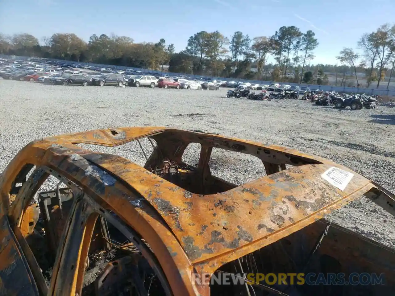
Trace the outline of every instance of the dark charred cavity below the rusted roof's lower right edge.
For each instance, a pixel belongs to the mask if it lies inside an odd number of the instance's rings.
[[[321,243],[319,243],[320,239],[322,239]],[[236,277],[236,274],[243,273],[265,275],[271,273],[278,279],[280,273],[305,275],[314,273],[315,275],[310,276],[309,279],[313,282],[318,281],[319,285],[299,285],[296,276],[293,285],[290,277],[286,278],[286,283],[282,282],[278,285],[278,280],[274,281],[271,275],[268,283],[262,280],[259,284],[253,285],[234,284],[232,280],[229,280],[229,285],[220,285],[218,281],[213,280],[210,290],[211,295],[215,296],[391,295],[395,290],[394,264],[393,250],[379,246],[376,242],[339,225],[329,225],[325,220],[318,220],[273,244],[221,266],[214,275],[233,274],[233,277]],[[376,283],[376,285],[366,284],[367,277],[363,277],[361,284],[358,285],[342,284],[340,276],[330,282],[333,275],[328,274],[339,275],[339,273],[344,273],[345,281],[348,281],[352,273],[376,273],[378,276],[384,273],[385,275],[382,284]],[[352,280],[357,281],[358,276],[352,277]]]

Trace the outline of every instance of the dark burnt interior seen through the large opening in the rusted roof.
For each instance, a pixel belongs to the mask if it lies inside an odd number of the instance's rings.
[[[262,148],[237,140],[213,135],[197,135],[167,131],[151,137],[156,141],[152,154],[144,168],[167,181],[196,194],[215,194],[228,191],[238,185],[213,176],[210,160],[213,148],[249,154],[261,160],[266,175],[286,170],[288,166],[320,163],[299,155],[286,154],[270,148]],[[198,164],[182,161],[182,155],[190,143],[201,145]],[[235,168],[237,169],[237,167]],[[240,184],[239,184],[240,185]]]

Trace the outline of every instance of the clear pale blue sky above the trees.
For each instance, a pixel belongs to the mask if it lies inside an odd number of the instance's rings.
[[[0,0],[0,32],[26,32],[39,39],[54,33],[129,36],[135,42],[174,43],[205,30],[230,37],[271,36],[280,26],[313,30],[320,45],[313,64],[335,64],[343,47],[354,47],[361,34],[393,22],[394,0]]]

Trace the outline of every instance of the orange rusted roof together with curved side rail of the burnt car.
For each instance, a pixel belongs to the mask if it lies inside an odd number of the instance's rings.
[[[295,167],[223,193],[201,195],[186,191],[128,159],[74,145],[117,146],[143,137],[155,139],[175,160],[181,158],[190,142],[198,142],[206,149],[238,151],[254,155],[264,163]],[[21,215],[15,209],[22,201],[15,200],[9,209],[9,191],[19,169],[27,163],[46,166],[64,175],[142,234],[158,257],[175,295],[199,292],[208,295],[207,289],[198,291],[201,288],[190,283],[192,270],[213,272],[313,223],[374,187],[367,178],[339,164],[279,146],[164,127],[93,130],[31,142],[11,161],[0,179],[0,217],[11,214],[12,227]],[[329,167],[354,174],[344,191],[321,178]],[[110,173],[114,182],[104,180],[98,173],[101,169],[107,172],[107,178]],[[146,203],[136,206],[137,199]]]

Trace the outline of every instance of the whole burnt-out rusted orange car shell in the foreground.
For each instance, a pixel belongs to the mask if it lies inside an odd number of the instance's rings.
[[[153,147],[144,167],[78,146],[143,138]],[[182,161],[190,143],[201,144],[196,166]],[[213,176],[214,148],[258,157],[266,176],[239,186]],[[49,176],[56,188],[34,200]],[[393,215],[394,195],[280,146],[165,127],[60,135],[26,145],[0,190],[0,295],[110,295],[125,285],[136,295],[378,295],[395,287],[393,250],[322,219],[361,195]],[[109,259],[100,269],[92,266],[98,257]],[[192,274],[307,271],[384,273],[386,284],[192,281]]]

